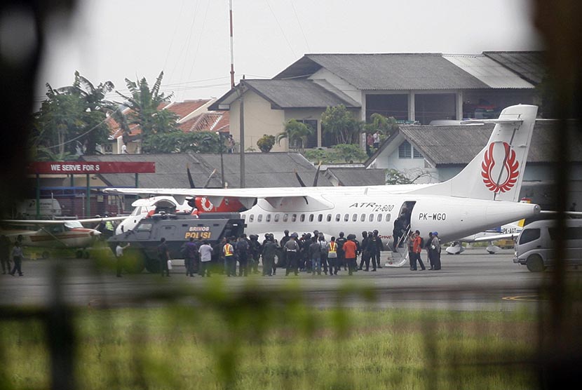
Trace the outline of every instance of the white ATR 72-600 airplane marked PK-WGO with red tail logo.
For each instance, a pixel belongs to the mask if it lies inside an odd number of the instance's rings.
[[[378,230],[393,247],[395,219],[405,211],[407,226],[428,236],[438,231],[442,241],[484,231],[492,226],[534,217],[538,205],[518,203],[537,107],[515,105],[499,119],[466,121],[495,123],[487,145],[461,172],[436,184],[360,187],[283,187],[245,189],[117,189],[110,194],[171,195],[178,203],[205,197],[210,205],[236,204],[245,211],[248,234],[284,230],[318,230],[326,238],[339,231],[359,236]],[[402,260],[400,264],[404,264]]]

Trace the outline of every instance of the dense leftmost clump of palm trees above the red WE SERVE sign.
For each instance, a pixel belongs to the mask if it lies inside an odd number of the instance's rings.
[[[75,72],[72,86],[53,89],[46,84],[46,100],[33,117],[30,152],[33,159],[70,159],[81,145],[83,154],[95,154],[95,145],[107,142],[106,113],[116,109],[105,100],[111,81],[93,86]]]

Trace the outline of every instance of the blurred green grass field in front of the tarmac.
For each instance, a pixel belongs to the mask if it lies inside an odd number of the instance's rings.
[[[292,290],[289,292],[294,293]],[[69,314],[78,389],[532,389],[529,313],[205,295]],[[2,321],[0,389],[50,388],[47,330]]]

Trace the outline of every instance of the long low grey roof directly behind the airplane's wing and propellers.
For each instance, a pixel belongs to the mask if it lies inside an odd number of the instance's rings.
[[[189,188],[186,167],[189,164],[194,184],[202,187],[212,170],[216,173],[210,179],[208,187],[220,187],[219,154],[108,154],[103,156],[86,156],[87,161],[153,161],[156,173],[140,173],[139,187],[142,188]],[[223,154],[224,180],[231,188],[239,187],[240,156]],[[305,183],[313,181],[316,167],[302,154],[292,152],[269,152],[245,154],[246,187],[299,187],[295,170]],[[102,180],[111,187],[135,187],[135,175],[105,174]],[[318,179],[319,186],[330,186],[323,175]]]

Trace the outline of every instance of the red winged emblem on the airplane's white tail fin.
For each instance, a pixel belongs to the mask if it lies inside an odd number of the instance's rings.
[[[481,163],[481,176],[483,177],[483,182],[489,191],[493,192],[506,192],[509,191],[515,183],[517,182],[517,177],[520,175],[520,163],[515,161],[515,151],[511,149],[507,142],[503,142],[503,148],[505,149],[505,158],[503,159],[503,168],[501,175],[494,179],[492,177],[492,170],[496,165],[496,161],[493,157],[493,149],[495,144],[489,144],[489,148],[485,151],[485,156],[483,162]],[[503,175],[504,173],[504,175]],[[496,182],[496,180],[503,180],[503,182]]]

